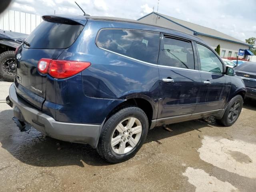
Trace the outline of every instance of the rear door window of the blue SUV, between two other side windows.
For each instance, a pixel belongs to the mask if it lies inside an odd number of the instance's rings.
[[[165,37],[158,64],[194,69],[192,44],[190,42]]]

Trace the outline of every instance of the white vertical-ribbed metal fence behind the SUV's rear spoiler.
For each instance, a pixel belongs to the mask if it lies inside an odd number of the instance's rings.
[[[30,34],[42,22],[40,15],[6,10],[0,14],[0,29]]]

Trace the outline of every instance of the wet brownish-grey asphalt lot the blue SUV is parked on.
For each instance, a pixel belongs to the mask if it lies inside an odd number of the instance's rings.
[[[0,101],[10,83],[0,82]],[[84,144],[20,132],[0,102],[0,191],[256,191],[256,102],[222,127],[193,120],[155,128],[138,154],[108,164]]]

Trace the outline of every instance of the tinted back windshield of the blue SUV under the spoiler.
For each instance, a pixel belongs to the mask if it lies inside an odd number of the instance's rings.
[[[28,36],[26,42],[30,47],[40,49],[63,49],[71,46],[84,26],[74,23],[62,23],[58,20],[44,20],[36,29]]]

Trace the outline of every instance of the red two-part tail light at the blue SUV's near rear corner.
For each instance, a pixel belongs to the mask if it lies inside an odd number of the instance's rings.
[[[49,74],[53,78],[64,79],[78,74],[91,65],[90,62],[52,60],[42,58],[38,62],[38,71],[42,74]]]

